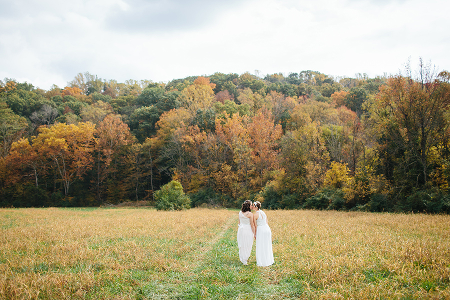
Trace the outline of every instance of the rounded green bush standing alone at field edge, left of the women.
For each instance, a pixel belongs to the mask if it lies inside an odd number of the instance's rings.
[[[182,210],[190,208],[190,198],[184,194],[183,186],[172,180],[154,192],[157,210]]]

